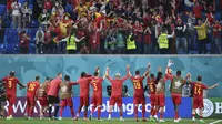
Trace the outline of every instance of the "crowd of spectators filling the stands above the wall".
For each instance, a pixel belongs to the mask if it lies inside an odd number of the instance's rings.
[[[33,9],[29,4],[7,0],[7,14],[1,16],[18,30],[20,53],[29,53],[33,41],[39,54],[222,53],[222,0],[34,0]],[[32,39],[27,29],[34,20],[39,27]],[[162,33],[171,35],[164,52],[159,46]],[[77,48],[68,52],[72,37]]]

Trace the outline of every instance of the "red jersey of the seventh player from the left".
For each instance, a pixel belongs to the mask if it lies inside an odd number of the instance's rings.
[[[93,95],[102,94],[102,78],[93,78],[91,81],[91,85],[93,87]]]

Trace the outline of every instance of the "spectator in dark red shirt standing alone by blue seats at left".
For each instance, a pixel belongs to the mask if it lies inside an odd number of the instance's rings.
[[[29,53],[29,41],[31,40],[27,32],[23,30],[19,32],[20,38],[20,53],[28,54]]]

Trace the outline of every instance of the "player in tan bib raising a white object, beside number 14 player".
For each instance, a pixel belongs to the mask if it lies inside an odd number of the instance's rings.
[[[165,75],[167,75],[167,79],[171,80],[170,92],[171,92],[172,102],[174,105],[174,122],[180,122],[181,117],[179,116],[179,106],[181,104],[182,90],[183,90],[183,85],[186,83],[186,80],[190,76],[190,74],[186,75],[185,80],[183,78],[181,78],[180,70],[176,71],[176,75],[172,75],[169,73],[169,69],[174,63],[171,60],[169,60],[168,63],[169,64],[167,66]]]

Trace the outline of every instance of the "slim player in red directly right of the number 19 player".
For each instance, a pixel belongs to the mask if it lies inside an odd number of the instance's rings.
[[[153,116],[157,116],[157,113],[154,111],[155,107],[155,78],[154,74],[150,74],[150,78],[147,79],[147,85],[150,90],[150,104],[151,104],[151,112],[150,112],[150,120],[153,118]]]

